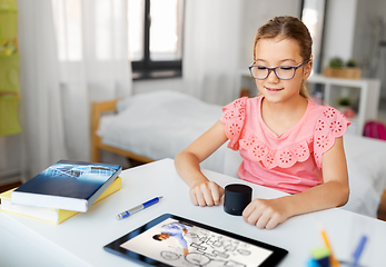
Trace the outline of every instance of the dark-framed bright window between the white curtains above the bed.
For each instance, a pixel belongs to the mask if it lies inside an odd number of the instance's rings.
[[[184,0],[129,0],[133,79],[181,76]]]

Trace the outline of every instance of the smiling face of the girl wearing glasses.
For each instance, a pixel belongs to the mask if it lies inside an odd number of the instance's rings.
[[[274,68],[277,66],[297,66],[304,61],[300,48],[293,39],[280,37],[260,39],[256,47],[254,65]],[[264,80],[256,80],[260,93],[269,102],[286,102],[299,98],[300,86],[310,75],[311,63],[305,63],[298,68],[290,80],[280,80],[274,71],[270,71]]]

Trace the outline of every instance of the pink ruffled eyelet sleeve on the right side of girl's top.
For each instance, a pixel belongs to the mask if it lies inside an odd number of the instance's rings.
[[[335,144],[335,138],[342,137],[350,122],[340,111],[329,106],[325,106],[324,112],[315,126],[314,135],[314,157],[316,165],[321,169],[321,156]]]

